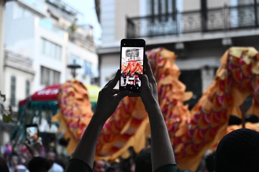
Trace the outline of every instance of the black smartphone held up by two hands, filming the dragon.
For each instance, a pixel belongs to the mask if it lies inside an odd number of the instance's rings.
[[[119,90],[140,91],[139,77],[144,74],[146,42],[143,39],[122,39],[120,43]]]

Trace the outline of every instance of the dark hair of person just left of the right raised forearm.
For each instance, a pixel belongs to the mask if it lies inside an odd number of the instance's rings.
[[[135,172],[152,172],[151,148],[140,151],[136,159]]]

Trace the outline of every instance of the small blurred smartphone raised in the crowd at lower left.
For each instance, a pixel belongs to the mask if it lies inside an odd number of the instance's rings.
[[[39,130],[37,124],[26,125],[25,127],[26,142],[28,144],[36,142],[39,138]]]

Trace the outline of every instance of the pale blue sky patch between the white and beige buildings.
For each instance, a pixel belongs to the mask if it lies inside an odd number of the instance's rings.
[[[63,0],[68,5],[81,12],[78,15],[78,24],[90,24],[94,27],[94,40],[97,45],[101,44],[102,29],[95,12],[94,0]]]

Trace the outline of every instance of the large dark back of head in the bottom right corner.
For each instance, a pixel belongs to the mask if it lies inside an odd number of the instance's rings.
[[[227,134],[215,153],[215,172],[259,171],[259,132],[239,129]]]

